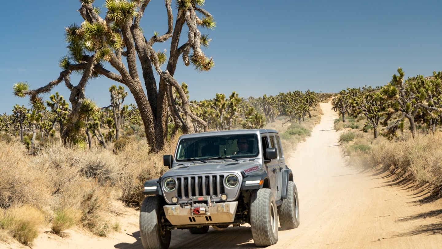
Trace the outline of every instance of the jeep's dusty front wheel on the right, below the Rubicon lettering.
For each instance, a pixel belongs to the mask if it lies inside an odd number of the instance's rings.
[[[278,241],[278,208],[270,189],[262,188],[252,192],[250,225],[255,245],[268,246]]]

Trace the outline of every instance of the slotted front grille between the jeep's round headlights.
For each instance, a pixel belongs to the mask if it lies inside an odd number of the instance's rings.
[[[176,195],[182,199],[192,196],[220,197],[224,193],[224,175],[195,175],[176,178]]]

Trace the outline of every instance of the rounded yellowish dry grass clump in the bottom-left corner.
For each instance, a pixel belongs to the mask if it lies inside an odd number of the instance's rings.
[[[43,214],[32,206],[0,209],[0,228],[20,241],[23,245],[31,245],[38,237],[38,231],[44,222]]]

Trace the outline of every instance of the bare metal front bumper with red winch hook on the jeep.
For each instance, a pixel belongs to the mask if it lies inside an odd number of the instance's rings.
[[[230,223],[235,219],[237,207],[238,202],[211,202],[205,207],[165,205],[164,213],[173,226]]]

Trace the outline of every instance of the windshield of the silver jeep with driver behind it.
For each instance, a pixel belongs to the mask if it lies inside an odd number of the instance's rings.
[[[199,136],[179,141],[176,160],[248,158],[258,156],[256,134]]]

